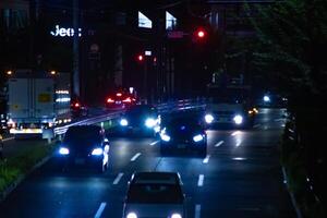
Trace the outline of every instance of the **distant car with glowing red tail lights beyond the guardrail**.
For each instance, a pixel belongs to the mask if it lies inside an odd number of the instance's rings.
[[[129,108],[136,104],[136,98],[126,92],[117,92],[111,94],[106,99],[107,109]]]

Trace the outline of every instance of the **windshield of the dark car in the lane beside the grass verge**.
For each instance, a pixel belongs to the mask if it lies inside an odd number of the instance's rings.
[[[86,145],[101,141],[100,129],[95,126],[72,128],[65,133],[63,143],[71,145]]]

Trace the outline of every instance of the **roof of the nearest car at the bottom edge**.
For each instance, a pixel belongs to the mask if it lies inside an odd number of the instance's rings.
[[[177,172],[136,172],[132,175],[132,184],[180,184]]]

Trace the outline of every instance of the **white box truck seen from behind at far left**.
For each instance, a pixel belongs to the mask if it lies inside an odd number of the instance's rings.
[[[64,110],[65,105],[69,111],[70,98],[58,100],[58,93],[69,90],[57,90],[57,80],[56,75],[48,72],[31,70],[15,71],[11,75],[8,81],[8,126],[15,138],[36,135],[46,137],[45,133],[49,133],[46,130],[58,123],[58,117],[71,121],[69,113],[58,113]]]

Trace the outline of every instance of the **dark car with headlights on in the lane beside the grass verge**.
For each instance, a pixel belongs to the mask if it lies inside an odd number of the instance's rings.
[[[70,126],[57,150],[62,169],[93,167],[100,172],[108,169],[109,141],[97,125]]]

